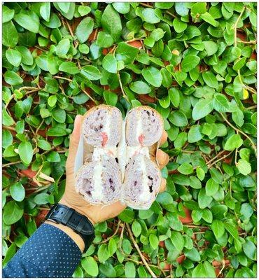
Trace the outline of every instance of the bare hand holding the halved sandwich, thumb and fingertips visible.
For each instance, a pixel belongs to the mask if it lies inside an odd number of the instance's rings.
[[[66,189],[59,203],[71,207],[78,211],[78,213],[87,216],[92,224],[94,224],[118,216],[126,206],[120,202],[105,207],[102,205],[91,205],[86,202],[81,195],[76,193],[73,169],[80,139],[80,127],[82,121],[83,116],[76,116],[73,132],[70,137],[69,156],[66,160]],[[161,144],[165,143],[165,141],[167,141],[167,132],[164,131],[161,138]],[[169,156],[161,150],[158,150],[157,158],[161,169],[169,162]],[[160,192],[165,190],[166,183],[166,180],[162,179]]]

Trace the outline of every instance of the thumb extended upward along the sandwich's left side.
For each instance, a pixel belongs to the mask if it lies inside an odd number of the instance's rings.
[[[74,160],[76,158],[76,151],[78,148],[78,143],[80,140],[81,123],[83,121],[83,116],[76,116],[73,125],[73,132],[70,135],[69,141],[69,156],[66,160],[67,166],[73,167]]]

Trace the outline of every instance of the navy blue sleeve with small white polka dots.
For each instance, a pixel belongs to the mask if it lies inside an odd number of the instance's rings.
[[[3,268],[3,278],[71,277],[81,252],[66,233],[41,225]]]

